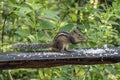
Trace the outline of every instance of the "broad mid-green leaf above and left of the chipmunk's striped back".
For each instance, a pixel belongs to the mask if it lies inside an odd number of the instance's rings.
[[[40,21],[37,26],[38,26],[38,29],[39,29],[39,30],[42,30],[42,29],[53,29],[53,28],[56,27],[56,26],[55,26],[52,22],[50,22],[50,21]]]

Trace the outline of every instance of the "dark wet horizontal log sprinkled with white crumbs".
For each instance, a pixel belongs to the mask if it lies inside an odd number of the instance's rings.
[[[120,47],[77,49],[72,52],[9,52],[0,54],[0,69],[46,68],[120,62]]]

